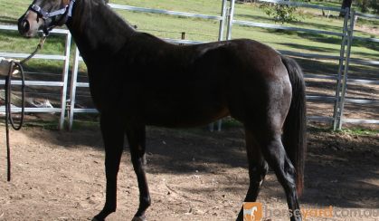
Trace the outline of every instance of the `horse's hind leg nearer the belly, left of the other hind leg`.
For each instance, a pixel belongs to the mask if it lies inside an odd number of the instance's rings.
[[[267,162],[261,154],[261,147],[254,139],[251,130],[245,130],[246,152],[249,162],[250,184],[244,202],[255,202],[260,192],[264,177],[269,171]],[[237,220],[243,219],[243,210],[240,211]]]

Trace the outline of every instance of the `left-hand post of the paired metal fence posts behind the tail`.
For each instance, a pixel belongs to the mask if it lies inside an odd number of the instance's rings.
[[[336,101],[333,112],[333,130],[336,130],[340,117],[340,92],[341,92],[341,80],[342,80],[342,72],[344,70],[344,62],[345,62],[345,48],[346,48],[346,33],[347,33],[347,21],[349,18],[350,9],[346,8],[346,14],[344,17],[344,26],[342,29],[342,43],[339,51],[339,63],[338,63],[338,72],[337,72],[337,80],[336,80]]]

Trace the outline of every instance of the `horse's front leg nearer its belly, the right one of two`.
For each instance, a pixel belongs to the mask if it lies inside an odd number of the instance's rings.
[[[133,221],[146,220],[145,211],[150,206],[150,194],[147,187],[147,178],[145,174],[145,147],[146,147],[146,131],[145,125],[133,126],[127,129],[130,156],[133,163],[134,171],[137,175],[139,188],[139,207]]]

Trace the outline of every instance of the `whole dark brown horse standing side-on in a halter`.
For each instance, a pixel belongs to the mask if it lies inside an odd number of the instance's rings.
[[[306,108],[304,80],[295,61],[247,39],[166,43],[137,32],[104,0],[34,0],[18,25],[21,34],[31,37],[63,24],[87,64],[91,96],[100,112],[107,197],[94,220],[116,210],[125,134],[140,192],[133,219],[145,220],[151,202],[144,171],[146,126],[193,127],[227,115],[245,128],[250,185],[244,201],[256,200],[270,166],[289,209],[299,209]],[[242,220],[242,211],[237,219]]]

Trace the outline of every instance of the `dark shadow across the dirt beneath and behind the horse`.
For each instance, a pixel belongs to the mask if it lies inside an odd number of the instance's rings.
[[[38,136],[38,133],[33,133],[33,136]],[[41,136],[44,136],[43,133]],[[49,139],[66,149],[80,145],[95,147],[102,151],[98,129],[71,133],[56,132],[52,133],[51,137],[44,136],[41,139]],[[223,129],[221,132],[209,132],[205,128],[192,130],[148,128],[147,172],[220,176],[230,169],[238,169],[244,178],[233,182],[230,181],[232,178],[226,178],[221,184],[223,188],[220,191],[233,190],[244,193],[248,187],[248,171],[243,147],[243,130],[238,126]],[[308,133],[306,190],[301,202],[325,207],[379,207],[377,147],[379,147],[378,134],[358,136],[311,130]],[[123,160],[129,164],[128,147],[125,154],[127,157]],[[283,191],[271,173],[263,185],[261,198],[272,197],[283,198]]]

